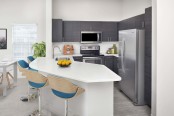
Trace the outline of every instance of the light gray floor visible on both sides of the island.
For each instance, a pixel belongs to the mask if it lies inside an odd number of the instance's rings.
[[[26,79],[19,79],[18,86],[9,89],[7,97],[2,97],[0,90],[0,116],[28,116],[37,108],[37,100],[21,102],[20,96],[27,93]],[[132,102],[116,87],[114,90],[114,116],[150,116],[147,106],[134,106]]]

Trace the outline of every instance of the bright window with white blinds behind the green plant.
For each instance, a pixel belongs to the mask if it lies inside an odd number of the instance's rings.
[[[33,55],[32,45],[37,41],[36,24],[15,24],[12,28],[13,56],[15,59],[26,59]]]

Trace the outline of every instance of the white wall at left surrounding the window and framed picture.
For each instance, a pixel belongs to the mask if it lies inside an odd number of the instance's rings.
[[[7,28],[8,49],[0,50],[0,59],[12,56],[13,24],[38,25],[38,39],[45,41],[45,0],[0,0],[0,28]]]

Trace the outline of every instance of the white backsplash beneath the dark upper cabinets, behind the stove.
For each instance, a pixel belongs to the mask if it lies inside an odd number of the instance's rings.
[[[61,52],[63,51],[63,46],[65,44],[70,44],[74,46],[74,54],[80,54],[80,46],[84,45],[81,44],[79,42],[53,42],[53,47],[58,46],[61,50]],[[119,47],[118,42],[102,42],[96,45],[100,45],[100,52],[101,53],[106,53],[106,51],[108,50],[108,48],[111,48],[113,46],[113,44],[116,44],[117,48]],[[60,53],[60,50],[58,48],[55,48],[54,50],[54,54],[57,55],[58,53]],[[118,50],[118,49],[117,49]]]

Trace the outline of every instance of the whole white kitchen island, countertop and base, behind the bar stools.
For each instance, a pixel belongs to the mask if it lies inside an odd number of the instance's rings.
[[[73,61],[62,68],[54,59],[37,58],[30,67],[46,76],[66,78],[85,89],[82,95],[69,100],[69,116],[114,115],[113,82],[121,78],[106,66]],[[64,100],[54,96],[49,86],[42,89],[42,107],[56,116],[64,114]]]

